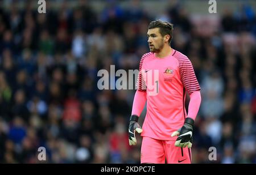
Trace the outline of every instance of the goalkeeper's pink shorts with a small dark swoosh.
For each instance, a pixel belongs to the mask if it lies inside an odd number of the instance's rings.
[[[143,136],[141,163],[191,164],[191,149],[174,145],[173,140],[158,140]]]

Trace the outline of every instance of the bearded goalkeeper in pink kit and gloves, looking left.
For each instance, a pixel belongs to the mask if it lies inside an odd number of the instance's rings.
[[[191,163],[193,125],[201,103],[200,86],[188,57],[172,49],[173,25],[156,20],[148,26],[150,52],[139,64],[137,91],[129,125],[129,144],[135,132],[143,136],[141,163]],[[185,92],[190,96],[188,114]],[[147,101],[143,127],[138,118]]]

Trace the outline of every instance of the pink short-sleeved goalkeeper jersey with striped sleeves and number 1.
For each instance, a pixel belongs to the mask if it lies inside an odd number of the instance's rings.
[[[190,95],[200,90],[188,57],[174,49],[164,58],[156,58],[151,52],[144,54],[139,65],[137,88],[147,94],[147,114],[141,135],[176,140],[170,135],[183,126],[187,117],[185,91]]]

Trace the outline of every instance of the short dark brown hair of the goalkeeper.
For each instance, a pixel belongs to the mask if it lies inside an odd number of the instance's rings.
[[[162,20],[154,20],[150,22],[150,24],[148,25],[148,29],[151,29],[151,28],[159,28],[159,32],[162,36],[170,35],[169,44],[171,45],[172,33],[174,31],[174,24],[169,22],[164,22]]]

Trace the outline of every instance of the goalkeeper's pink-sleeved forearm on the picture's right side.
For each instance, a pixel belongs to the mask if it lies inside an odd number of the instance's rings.
[[[195,91],[190,95],[190,101],[188,105],[188,117],[196,119],[197,113],[199,111],[201,104],[201,93],[200,91]]]

